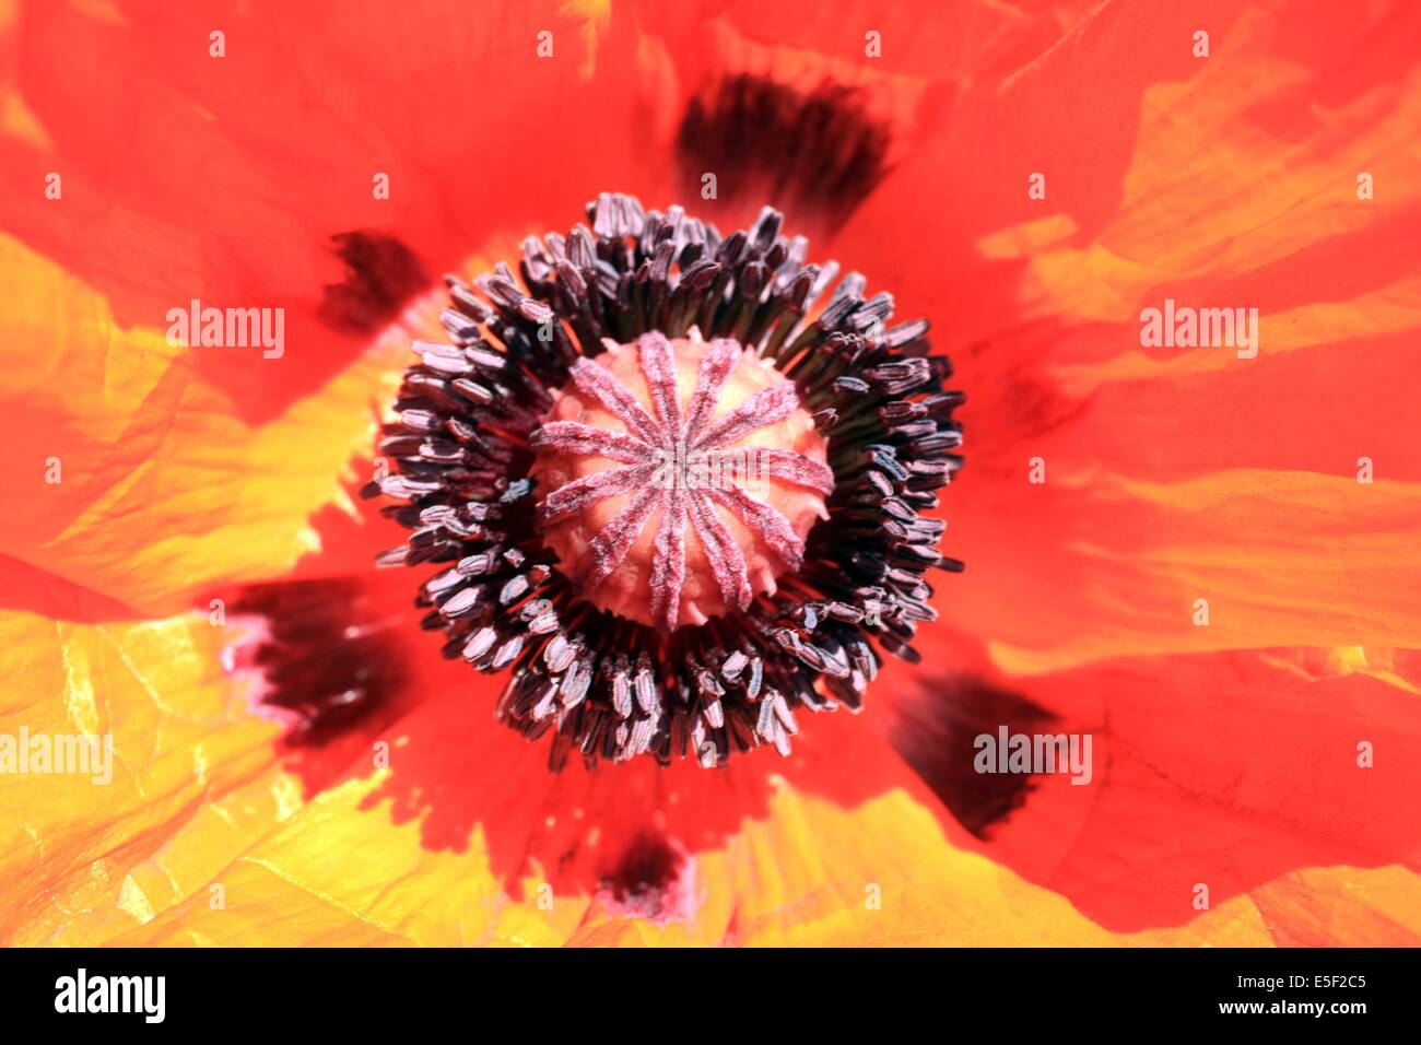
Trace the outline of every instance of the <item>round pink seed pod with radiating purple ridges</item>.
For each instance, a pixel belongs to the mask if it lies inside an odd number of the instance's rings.
[[[732,338],[608,343],[533,434],[543,537],[603,610],[674,630],[745,610],[828,518],[827,441],[794,382]]]

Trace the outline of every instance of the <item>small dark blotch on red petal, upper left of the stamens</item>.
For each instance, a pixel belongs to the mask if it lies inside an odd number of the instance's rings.
[[[382,232],[338,232],[331,236],[345,279],[325,286],[320,317],[344,334],[374,334],[429,286],[415,253]]]

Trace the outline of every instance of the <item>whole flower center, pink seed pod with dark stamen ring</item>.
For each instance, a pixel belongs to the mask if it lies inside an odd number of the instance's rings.
[[[800,711],[918,658],[926,573],[962,569],[928,515],[952,367],[773,208],[729,235],[618,193],[587,218],[446,277],[379,442],[398,472],[364,491],[411,530],[377,562],[441,564],[421,624],[507,672],[497,717],[554,769],[789,755]]]

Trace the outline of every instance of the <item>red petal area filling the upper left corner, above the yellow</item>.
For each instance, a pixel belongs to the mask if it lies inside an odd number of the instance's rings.
[[[0,71],[0,229],[95,287],[124,327],[192,299],[286,309],[281,365],[196,361],[249,422],[321,388],[377,333],[368,301],[342,313],[342,287],[375,279],[379,304],[389,276],[404,299],[414,274],[438,277],[506,225],[645,188],[624,74],[635,41],[608,36],[595,0],[476,18],[455,3],[30,4],[3,23],[0,47],[23,61]],[[357,230],[408,257],[347,270],[333,236]]]

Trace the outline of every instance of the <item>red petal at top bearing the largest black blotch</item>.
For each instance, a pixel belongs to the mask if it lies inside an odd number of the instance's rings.
[[[618,4],[641,28],[639,104],[665,145],[644,164],[720,227],[770,203],[823,252],[971,85],[999,82],[1080,17],[1052,7]]]

